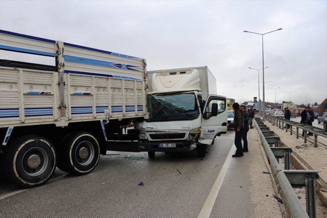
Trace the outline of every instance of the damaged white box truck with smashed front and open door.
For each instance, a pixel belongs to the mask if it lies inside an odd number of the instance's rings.
[[[227,132],[227,99],[217,94],[208,67],[147,72],[149,119],[141,123],[139,150],[181,152],[206,146]]]

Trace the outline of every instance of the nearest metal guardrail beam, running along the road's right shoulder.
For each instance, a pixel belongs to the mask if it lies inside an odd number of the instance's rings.
[[[256,120],[254,119],[256,123]],[[284,171],[281,169],[279,163],[277,162],[273,152],[271,151],[269,144],[267,143],[265,136],[261,132],[259,126],[257,125],[257,130],[261,139],[261,143],[264,147],[266,156],[269,160],[269,166],[273,175],[273,178],[276,182],[277,187],[279,188],[278,192],[283,199],[283,203],[286,208],[288,217],[293,218],[308,218],[306,211],[303,209],[299,199],[293,191],[292,186],[290,185]]]

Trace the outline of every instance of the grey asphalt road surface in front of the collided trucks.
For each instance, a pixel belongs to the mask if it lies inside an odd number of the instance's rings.
[[[33,189],[0,181],[0,217],[197,218],[229,152],[233,152],[233,142],[233,131],[217,137],[203,159],[196,151],[156,153],[154,159],[147,153],[107,152],[90,174],[72,176],[57,169],[52,181]],[[235,210],[233,205],[251,195],[251,190],[242,189],[251,183],[249,174],[242,173],[251,159],[242,161],[231,159],[227,165],[210,217],[252,217],[253,206],[241,205],[242,210]],[[261,165],[265,170],[265,164]],[[268,198],[266,193],[261,195]]]

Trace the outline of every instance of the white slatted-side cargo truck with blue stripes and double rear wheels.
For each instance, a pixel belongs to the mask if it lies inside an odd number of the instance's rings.
[[[0,49],[53,58],[53,66],[0,60],[0,176],[23,187],[58,166],[91,172],[107,136],[142,122],[144,59],[0,30]]]

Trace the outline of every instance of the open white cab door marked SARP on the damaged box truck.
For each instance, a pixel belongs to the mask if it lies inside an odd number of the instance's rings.
[[[209,95],[206,99],[199,142],[211,144],[213,139],[227,132],[227,99],[224,96]]]

